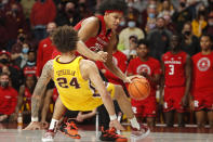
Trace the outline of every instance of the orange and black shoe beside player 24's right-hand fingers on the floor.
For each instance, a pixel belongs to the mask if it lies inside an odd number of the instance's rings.
[[[116,133],[115,128],[104,130],[104,127],[102,127],[102,134],[99,137],[99,140],[112,142],[128,142],[128,139],[125,137]]]

